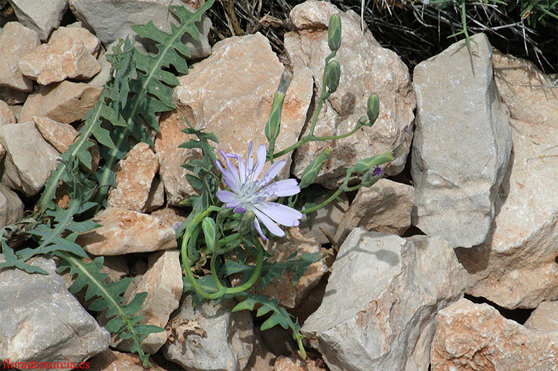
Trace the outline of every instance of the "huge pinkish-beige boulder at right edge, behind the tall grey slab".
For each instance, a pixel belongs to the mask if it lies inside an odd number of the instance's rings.
[[[558,97],[527,61],[495,54],[495,77],[511,114],[513,152],[485,244],[458,248],[467,292],[506,308],[558,299]]]

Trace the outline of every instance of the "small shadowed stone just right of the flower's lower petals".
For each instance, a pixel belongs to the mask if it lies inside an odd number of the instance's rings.
[[[330,191],[331,192],[331,191]],[[329,196],[319,196],[316,198],[316,204],[322,203]],[[309,214],[304,214],[299,226],[301,233],[308,238],[315,238],[320,244],[327,244],[329,239],[324,232],[329,234],[331,238],[335,237],[339,223],[343,214],[349,210],[349,200],[344,193],[340,194],[341,201],[333,200],[331,203]],[[324,232],[322,232],[322,230]]]

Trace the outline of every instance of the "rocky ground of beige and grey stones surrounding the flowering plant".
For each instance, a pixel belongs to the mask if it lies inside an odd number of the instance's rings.
[[[132,24],[168,27],[169,3],[181,1],[10,0],[15,14],[0,31],[1,226],[33,211],[103,90],[112,43]],[[309,0],[289,15],[294,77],[276,150],[308,131],[333,14],[342,19],[342,77],[316,134],[351,129],[370,93],[380,116],[347,139],[303,145],[286,158],[290,174],[300,177],[326,146],[333,155],[317,177],[324,188],[340,184],[356,159],[400,143],[405,155],[373,187],[267,246],[277,262],[326,253],[296,285],[285,272],[260,290],[303,322],[309,357],[299,358],[287,331],[259,331],[261,320],[232,313],[231,302],[193,306],[182,295],[173,226],[186,219],[179,202],[193,192],[180,167],[193,157],[178,147],[188,141],[183,117],[214,132],[226,152],[266,143],[284,69],[262,33],[210,46],[209,18],[197,24],[201,41],[189,44],[176,109],[160,116],[153,146],[137,143],[119,162],[107,208],[93,219],[102,227],[77,239],[91,258],[105,256],[110,279],[133,278],[126,298],[148,293],[144,323],[166,331],[149,335],[144,351],[164,370],[558,370],[556,77],[478,33],[472,54],[456,42],[418,63],[411,79],[395,52],[361,30],[359,15]],[[33,265],[48,275],[0,269],[1,360],[144,369],[130,344],[103,328],[102,312],[84,310],[91,298],[68,292],[72,278],[57,274],[52,258]]]

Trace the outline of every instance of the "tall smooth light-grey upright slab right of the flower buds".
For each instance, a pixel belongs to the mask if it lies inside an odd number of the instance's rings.
[[[492,73],[492,47],[481,33],[414,70],[412,223],[452,247],[488,239],[495,200],[511,152],[506,107]]]

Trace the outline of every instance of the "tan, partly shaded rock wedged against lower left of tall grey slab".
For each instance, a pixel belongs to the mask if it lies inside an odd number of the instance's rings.
[[[413,187],[387,179],[359,189],[339,223],[335,242],[341,244],[355,227],[402,235],[411,226],[413,201]]]

